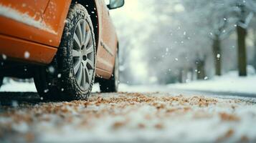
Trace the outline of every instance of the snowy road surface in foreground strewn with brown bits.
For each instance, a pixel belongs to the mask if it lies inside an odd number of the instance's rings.
[[[0,142],[256,142],[256,105],[158,92],[0,107]]]

